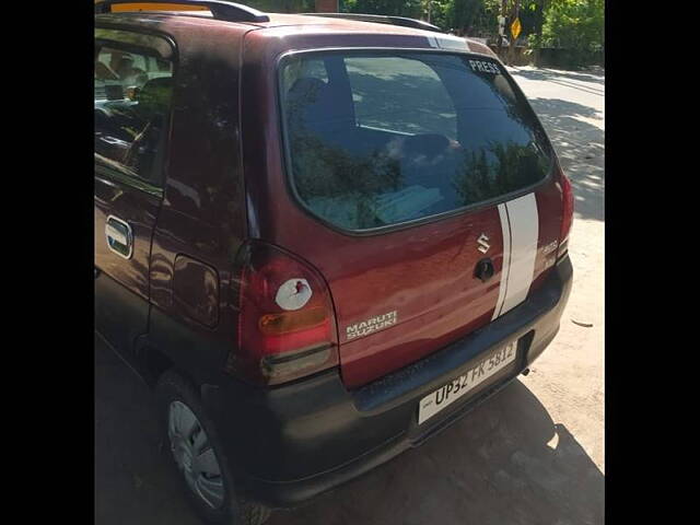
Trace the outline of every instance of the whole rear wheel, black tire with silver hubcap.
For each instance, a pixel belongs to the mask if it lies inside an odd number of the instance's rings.
[[[165,443],[164,453],[168,456],[168,463],[180,479],[199,516],[212,524],[262,525],[270,516],[270,511],[236,493],[225,452],[213,423],[202,408],[197,389],[176,372],[168,371],[159,378],[155,397]],[[180,435],[183,432],[177,432],[176,427],[180,421],[185,421],[183,425],[187,427],[192,421],[192,416],[194,435],[185,438]],[[197,448],[202,440],[205,445],[201,450]],[[218,470],[220,476],[209,477],[208,474],[211,472],[198,475],[198,460],[194,457],[203,457],[205,453],[210,459],[208,468],[212,471]],[[215,469],[211,467],[212,457],[215,458]],[[202,490],[202,483],[198,481],[206,481],[217,487],[217,490]],[[222,486],[221,489],[219,485]],[[212,497],[212,493],[215,493],[215,497]]]

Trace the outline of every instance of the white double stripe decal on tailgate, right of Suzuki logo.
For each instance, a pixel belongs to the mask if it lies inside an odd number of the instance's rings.
[[[525,301],[533,283],[539,236],[535,194],[500,205],[499,215],[503,231],[503,270],[492,319]]]

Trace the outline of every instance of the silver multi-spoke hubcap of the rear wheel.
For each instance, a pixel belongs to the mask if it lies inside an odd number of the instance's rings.
[[[182,401],[171,402],[167,435],[173,457],[187,486],[208,506],[221,506],[224,489],[219,460],[199,420]]]

